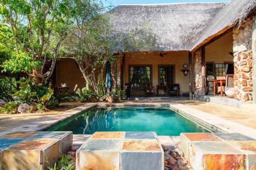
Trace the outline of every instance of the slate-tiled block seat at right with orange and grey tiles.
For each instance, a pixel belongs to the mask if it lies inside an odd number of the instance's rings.
[[[239,133],[181,133],[180,148],[193,169],[255,169],[256,140]]]

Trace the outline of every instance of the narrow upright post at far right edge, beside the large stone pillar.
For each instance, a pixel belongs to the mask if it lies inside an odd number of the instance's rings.
[[[256,105],[256,16],[252,18],[252,101]]]

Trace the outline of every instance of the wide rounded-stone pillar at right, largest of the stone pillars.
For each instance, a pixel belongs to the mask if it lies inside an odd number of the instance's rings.
[[[233,29],[234,99],[252,100],[252,19]]]

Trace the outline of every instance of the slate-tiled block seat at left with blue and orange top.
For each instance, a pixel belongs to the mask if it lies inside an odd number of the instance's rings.
[[[0,169],[48,169],[72,145],[72,132],[12,132],[0,136]]]

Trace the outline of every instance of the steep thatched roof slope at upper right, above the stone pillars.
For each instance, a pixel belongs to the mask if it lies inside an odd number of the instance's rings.
[[[255,7],[255,0],[232,0],[210,21],[209,26],[190,50],[195,50],[211,38],[239,25]]]

